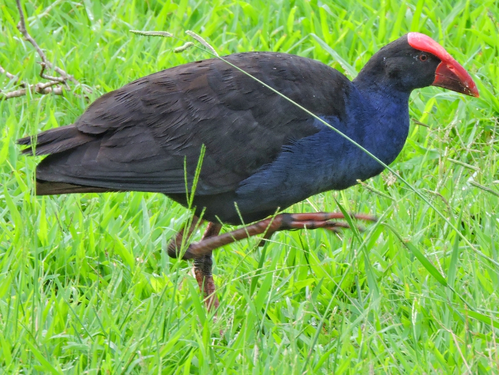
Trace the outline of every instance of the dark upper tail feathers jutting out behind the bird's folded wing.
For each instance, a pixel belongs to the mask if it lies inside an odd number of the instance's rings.
[[[93,136],[80,132],[75,125],[61,126],[60,128],[46,130],[37,136],[24,137],[17,140],[20,145],[32,146],[35,142],[35,155],[48,155],[69,150],[90,142]],[[33,155],[33,148],[22,150],[23,154]]]

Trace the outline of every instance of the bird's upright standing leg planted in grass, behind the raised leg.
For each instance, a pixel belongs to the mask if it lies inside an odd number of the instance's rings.
[[[210,237],[218,236],[221,229],[221,224],[209,222],[201,241],[204,241]],[[208,310],[211,310],[212,308],[218,309],[219,307],[219,300],[215,294],[215,282],[213,281],[212,266],[213,259],[211,251],[200,258],[194,259],[194,275],[196,276],[199,290],[205,298],[208,298],[206,300]]]

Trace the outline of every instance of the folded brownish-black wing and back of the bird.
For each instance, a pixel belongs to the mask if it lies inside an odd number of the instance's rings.
[[[351,82],[321,62],[272,52],[226,59],[317,115],[345,116]],[[209,59],[140,78],[98,98],[73,125],[38,134],[35,152],[49,156],[38,165],[36,178],[185,193],[184,159],[190,184],[204,144],[196,194],[218,194],[235,190],[282,146],[318,131],[311,117],[287,100]],[[30,138],[19,143],[28,145]]]

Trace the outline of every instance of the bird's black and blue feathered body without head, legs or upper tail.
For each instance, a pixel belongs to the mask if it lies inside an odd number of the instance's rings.
[[[226,58],[385,163],[402,149],[408,93],[357,87],[321,62],[290,54]],[[248,223],[383,170],[348,140],[219,59],[129,83],[97,99],[73,125],[41,133],[37,142],[38,154],[51,154],[37,167],[38,194],[152,191],[183,204],[184,157],[191,185],[204,144],[194,206],[198,213],[206,208],[207,220],[231,224],[241,223],[235,202]]]

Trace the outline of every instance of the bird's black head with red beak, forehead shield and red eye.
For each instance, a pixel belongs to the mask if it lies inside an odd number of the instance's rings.
[[[401,91],[439,86],[479,96],[465,68],[439,43],[419,32],[409,32],[376,52],[358,78],[365,81],[369,76]]]

